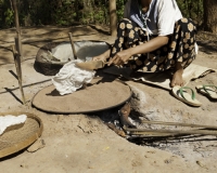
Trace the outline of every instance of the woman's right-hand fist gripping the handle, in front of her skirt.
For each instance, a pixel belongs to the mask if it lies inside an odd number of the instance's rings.
[[[127,63],[130,57],[131,57],[130,51],[124,50],[116,53],[116,55],[112,59],[110,59],[107,65],[110,66],[111,64],[114,64],[114,65],[120,66]]]

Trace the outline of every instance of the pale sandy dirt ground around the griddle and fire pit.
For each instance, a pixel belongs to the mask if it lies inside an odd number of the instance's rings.
[[[104,123],[114,121],[117,109],[91,115],[54,115],[31,107],[34,95],[51,84],[51,77],[36,72],[34,62],[40,46],[51,41],[101,40],[112,43],[106,27],[34,27],[22,28],[24,61],[23,86],[26,105],[16,79],[11,44],[15,29],[0,30],[0,111],[27,111],[41,118],[44,129],[41,138],[46,146],[36,152],[26,149],[0,159],[4,173],[213,173],[216,172],[216,136],[186,136],[179,138],[126,139]],[[217,36],[201,32],[200,52],[195,64],[217,69]],[[176,99],[167,90],[135,81],[126,81],[133,95],[130,101],[138,117],[148,120],[217,125],[217,102],[196,94],[203,104],[195,108]],[[216,72],[191,81],[188,85],[217,85]],[[138,116],[139,115],[139,116]],[[138,124],[142,127],[143,124]]]

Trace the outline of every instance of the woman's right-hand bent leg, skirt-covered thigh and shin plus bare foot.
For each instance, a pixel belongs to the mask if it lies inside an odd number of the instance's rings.
[[[175,69],[170,85],[183,85],[183,69],[195,58],[195,26],[191,19],[178,21],[167,45],[150,52],[149,56],[143,54],[138,56],[131,66],[136,70],[150,72]]]

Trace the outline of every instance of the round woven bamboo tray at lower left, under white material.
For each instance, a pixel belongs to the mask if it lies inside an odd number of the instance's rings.
[[[16,130],[4,132],[0,135],[0,158],[10,156],[31,145],[42,133],[43,124],[40,118],[29,112],[0,112],[0,116],[26,115],[24,125]]]

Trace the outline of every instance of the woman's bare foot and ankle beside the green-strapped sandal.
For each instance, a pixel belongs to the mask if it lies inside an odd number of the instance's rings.
[[[176,64],[175,74],[173,76],[170,86],[174,88],[175,85],[183,85],[183,79],[182,79],[183,68],[181,66],[181,63]]]

